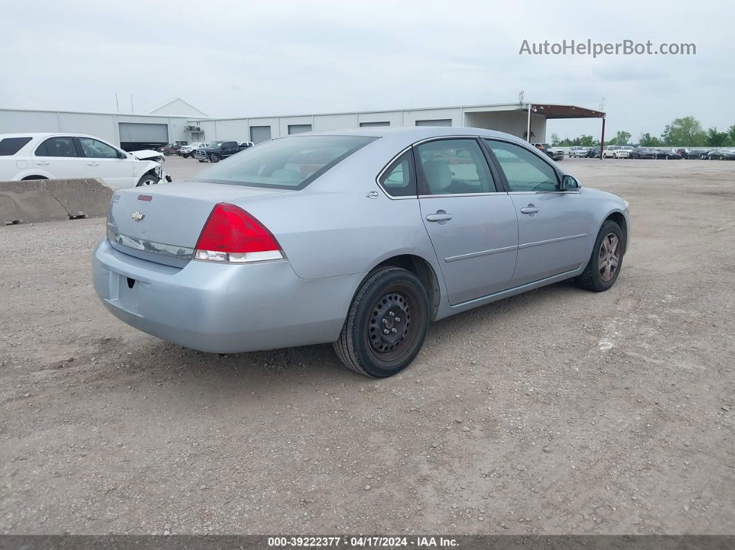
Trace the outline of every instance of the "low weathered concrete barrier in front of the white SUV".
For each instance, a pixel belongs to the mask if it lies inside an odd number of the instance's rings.
[[[111,198],[96,178],[0,181],[0,223],[107,216]]]

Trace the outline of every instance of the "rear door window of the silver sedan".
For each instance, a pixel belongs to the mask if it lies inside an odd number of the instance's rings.
[[[437,140],[416,146],[419,195],[495,192],[485,156],[476,140]]]

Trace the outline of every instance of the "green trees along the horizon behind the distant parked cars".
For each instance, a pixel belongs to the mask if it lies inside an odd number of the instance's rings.
[[[630,132],[618,131],[605,145],[628,145],[631,139]],[[735,146],[735,124],[727,131],[718,131],[712,126],[706,130],[695,117],[675,118],[666,125],[661,137],[652,136],[649,132],[640,134],[638,143],[641,147],[728,147]],[[588,134],[582,134],[570,140],[568,137],[559,140],[557,134],[551,134],[551,145],[555,147],[592,147],[600,145],[600,140]]]

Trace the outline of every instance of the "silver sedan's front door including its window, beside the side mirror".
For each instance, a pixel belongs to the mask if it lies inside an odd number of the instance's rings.
[[[559,173],[530,148],[485,140],[501,169],[518,218],[513,286],[577,269],[587,262],[592,214],[578,189],[559,190]]]

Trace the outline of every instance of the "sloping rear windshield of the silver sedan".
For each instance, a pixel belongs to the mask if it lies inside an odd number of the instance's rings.
[[[189,181],[304,189],[375,137],[301,136],[272,140],[214,164]]]

